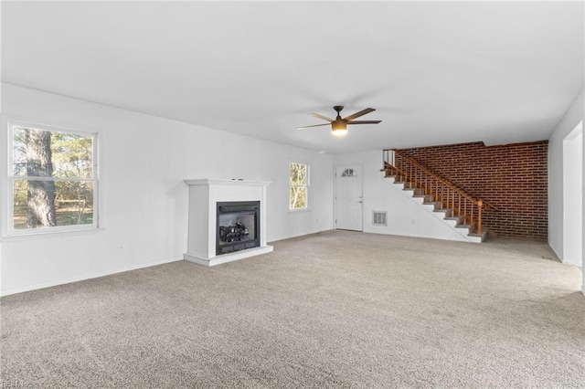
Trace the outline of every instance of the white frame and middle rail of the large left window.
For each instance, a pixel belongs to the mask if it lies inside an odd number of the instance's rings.
[[[70,233],[80,231],[92,231],[100,228],[100,139],[101,131],[95,128],[89,128],[84,126],[66,126],[57,124],[48,124],[46,122],[30,121],[25,119],[14,119],[5,118],[3,120],[3,127],[6,131],[5,145],[2,147],[6,151],[4,177],[5,185],[2,187],[5,200],[3,201],[3,208],[6,216],[5,226],[2,226],[2,237],[26,237],[26,236],[38,236],[45,234],[58,234],[58,233]],[[16,127],[20,128],[35,128],[41,131],[51,132],[65,132],[71,134],[79,134],[83,136],[91,137],[92,147],[92,170],[93,174],[91,178],[63,178],[63,177],[42,177],[40,181],[53,181],[53,182],[89,182],[93,184],[93,220],[91,224],[82,225],[70,225],[70,226],[49,226],[42,228],[15,228],[14,224],[14,191],[16,181],[30,181],[37,179],[35,177],[29,177],[27,175],[15,175],[14,173],[14,161],[15,161],[15,131]]]

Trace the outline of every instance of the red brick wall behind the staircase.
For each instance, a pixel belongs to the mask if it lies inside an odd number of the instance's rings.
[[[431,171],[497,210],[483,223],[499,237],[548,238],[548,141],[483,142],[403,149]]]

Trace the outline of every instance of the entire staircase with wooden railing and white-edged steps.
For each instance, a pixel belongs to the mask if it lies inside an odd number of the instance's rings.
[[[400,150],[384,150],[381,170],[392,184],[399,185],[398,189],[409,192],[414,201],[439,216],[466,240],[484,241],[487,228],[482,226],[482,213],[495,209],[493,205],[473,198]]]

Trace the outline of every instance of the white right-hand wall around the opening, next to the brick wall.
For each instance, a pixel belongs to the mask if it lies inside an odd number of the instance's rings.
[[[548,140],[548,245],[558,258],[565,258],[563,248],[563,141],[583,120],[584,92],[573,101]]]

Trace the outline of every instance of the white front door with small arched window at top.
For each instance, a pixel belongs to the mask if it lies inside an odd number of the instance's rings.
[[[363,229],[361,165],[335,168],[335,228]]]

